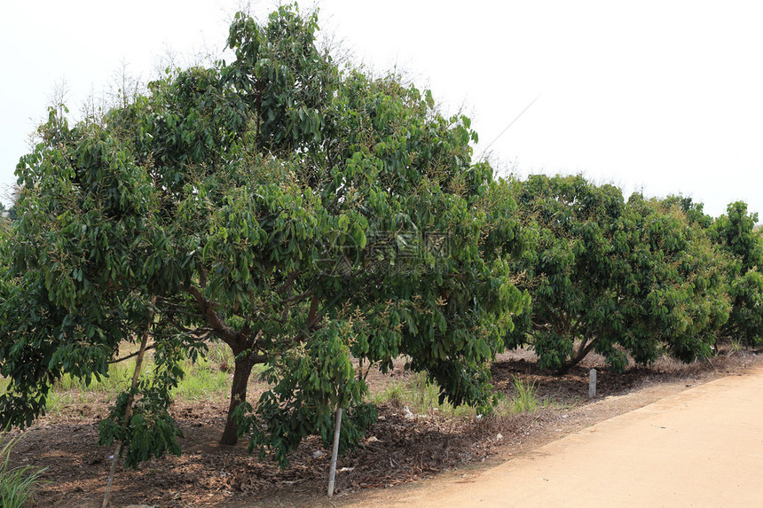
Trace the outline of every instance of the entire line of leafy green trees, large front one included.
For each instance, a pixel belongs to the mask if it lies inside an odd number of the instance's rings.
[[[153,371],[100,427],[129,465],[179,452],[170,393],[210,340],[235,355],[222,442],[247,436],[281,464],[308,435],[327,446],[338,407],[342,449],[357,443],[376,415],[365,375],[400,356],[487,411],[506,347],[560,371],[595,350],[621,370],[760,340],[743,204],[712,219],[580,176],[496,181],[468,118],[340,69],[316,30],[295,7],[238,15],[231,63],[169,69],[74,126],[51,109],[3,238],[4,426],[30,425],[65,374],[106,376],[146,332]],[[271,389],[252,404],[258,363]]]

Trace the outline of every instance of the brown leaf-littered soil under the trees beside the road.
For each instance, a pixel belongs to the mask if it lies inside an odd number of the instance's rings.
[[[363,446],[340,457],[335,505],[362,503],[376,489],[410,484],[445,473],[458,481],[475,467],[498,464],[522,456],[564,435],[602,420],[640,408],[687,387],[729,373],[763,365],[763,355],[746,351],[724,354],[712,363],[684,365],[662,359],[649,368],[635,367],[623,374],[607,371],[602,358],[560,377],[540,371],[531,353],[499,356],[492,366],[494,383],[511,397],[515,377],[533,383],[542,404],[531,413],[485,418],[448,418],[438,411],[405,418],[395,405],[382,404],[379,421]],[[597,397],[587,400],[588,370],[598,370]],[[387,376],[373,373],[372,392],[405,379],[396,369]],[[255,393],[262,387],[253,387]],[[112,449],[96,446],[98,421],[109,401],[68,408],[40,420],[21,433],[13,449],[14,465],[47,467],[35,496],[38,506],[100,506],[108,477]],[[181,457],[152,459],[138,470],[118,466],[113,506],[323,506],[329,454],[312,438],[291,457],[281,471],[271,460],[259,461],[247,453],[247,443],[234,447],[218,444],[227,401],[176,402],[174,418],[185,437]],[[320,453],[316,453],[322,451]]]

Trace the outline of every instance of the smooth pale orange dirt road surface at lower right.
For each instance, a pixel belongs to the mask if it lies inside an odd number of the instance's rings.
[[[364,506],[763,506],[763,369]]]

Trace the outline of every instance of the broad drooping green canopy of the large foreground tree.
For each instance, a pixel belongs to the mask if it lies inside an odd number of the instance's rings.
[[[168,69],[100,121],[51,109],[3,244],[4,426],[30,425],[64,374],[106,376],[146,331],[153,372],[100,426],[128,465],[179,452],[170,392],[210,340],[235,355],[222,442],[246,434],[281,464],[307,435],[328,442],[337,407],[342,447],[358,442],[364,365],[406,356],[442,396],[490,407],[490,360],[529,302],[505,259],[513,201],[471,160],[468,118],[339,69],[317,29],[293,6],[239,14],[231,63]],[[252,404],[257,363],[271,389]]]

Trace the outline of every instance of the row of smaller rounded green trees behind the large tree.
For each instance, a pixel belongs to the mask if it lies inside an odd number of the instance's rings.
[[[507,347],[561,372],[596,351],[622,371],[627,356],[689,362],[719,340],[763,339],[763,238],[744,203],[713,219],[688,198],[625,201],[582,176],[507,185],[526,247],[511,265],[532,297]]]

